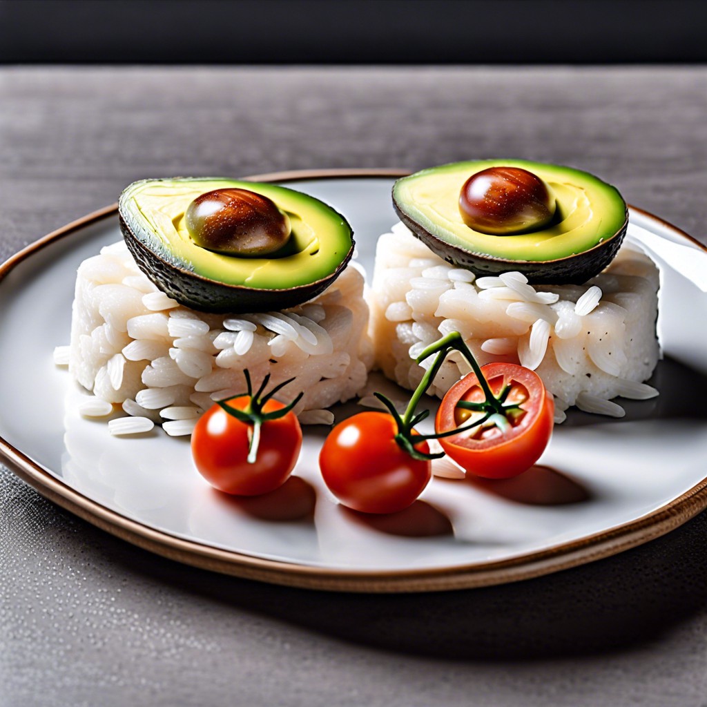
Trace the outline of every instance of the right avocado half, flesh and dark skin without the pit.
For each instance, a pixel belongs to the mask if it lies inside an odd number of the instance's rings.
[[[464,182],[490,167],[520,167],[541,177],[556,197],[553,221],[522,235],[469,228],[459,211]],[[520,271],[533,284],[581,284],[614,259],[629,211],[621,194],[587,172],[527,160],[474,160],[422,170],[397,180],[400,220],[437,255],[481,275]]]

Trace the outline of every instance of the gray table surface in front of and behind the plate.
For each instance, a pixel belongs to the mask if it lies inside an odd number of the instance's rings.
[[[705,68],[6,66],[0,261],[146,176],[497,156],[707,243]],[[0,705],[705,705],[706,541],[703,513],[513,585],[327,594],[152,556],[0,467]]]

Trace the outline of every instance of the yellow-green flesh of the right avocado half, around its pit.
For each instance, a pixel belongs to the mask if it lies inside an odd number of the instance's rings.
[[[528,170],[547,182],[557,200],[550,226],[498,236],[479,233],[462,221],[459,196],[464,182],[481,170],[501,166]],[[429,235],[491,259],[556,261],[591,250],[626,226],[626,203],[617,189],[580,170],[527,160],[477,160],[422,170],[397,180],[393,201],[404,223],[422,240]]]

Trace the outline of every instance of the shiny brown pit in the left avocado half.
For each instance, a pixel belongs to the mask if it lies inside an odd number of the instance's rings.
[[[290,238],[290,220],[274,201],[250,189],[214,189],[189,204],[185,226],[196,245],[224,255],[262,257]]]

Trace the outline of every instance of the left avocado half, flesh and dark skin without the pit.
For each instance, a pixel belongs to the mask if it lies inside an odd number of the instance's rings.
[[[269,257],[239,257],[196,245],[185,226],[189,204],[214,189],[268,197],[292,226]],[[118,202],[120,229],[140,269],[168,296],[203,312],[267,312],[302,304],[331,285],[354,252],[351,226],[323,201],[294,189],[222,178],[142,180]]]

